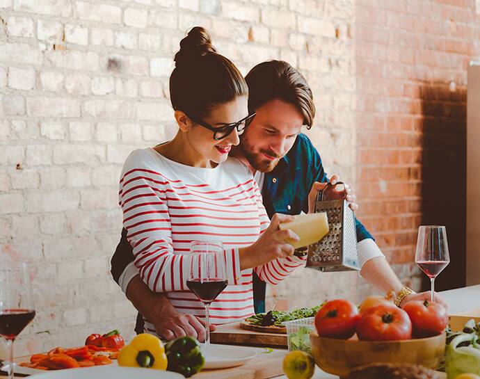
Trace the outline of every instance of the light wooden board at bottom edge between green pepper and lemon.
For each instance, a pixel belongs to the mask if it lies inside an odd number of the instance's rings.
[[[282,361],[287,350],[259,353],[243,366],[232,369],[203,370],[193,379],[270,379],[283,375]]]

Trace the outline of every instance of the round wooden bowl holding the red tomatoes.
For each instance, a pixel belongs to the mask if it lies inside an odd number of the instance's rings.
[[[358,366],[371,363],[412,363],[436,369],[445,351],[445,332],[428,338],[403,341],[358,341],[319,337],[310,333],[312,355],[323,371],[346,377]]]

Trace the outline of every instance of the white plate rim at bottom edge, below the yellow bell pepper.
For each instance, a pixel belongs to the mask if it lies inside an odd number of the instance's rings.
[[[35,379],[185,379],[179,373],[170,371],[136,369],[134,367],[95,366],[82,369],[47,371],[36,374]]]

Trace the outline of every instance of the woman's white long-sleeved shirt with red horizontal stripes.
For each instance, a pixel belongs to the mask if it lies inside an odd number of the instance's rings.
[[[254,313],[253,270],[240,271],[238,248],[257,241],[270,220],[243,163],[229,158],[215,168],[198,168],[152,148],[135,150],[122,170],[119,198],[134,263],[152,291],[166,293],[178,312],[204,317],[202,303],[186,287],[190,243],[222,241],[229,285],[211,303],[211,322]],[[304,263],[287,257],[254,269],[264,282],[277,284]],[[145,329],[154,332],[154,325],[145,320]]]

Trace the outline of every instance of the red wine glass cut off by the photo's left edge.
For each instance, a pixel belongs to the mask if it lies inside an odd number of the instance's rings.
[[[0,261],[0,336],[8,344],[8,379],[13,378],[13,341],[33,317],[28,264]]]

